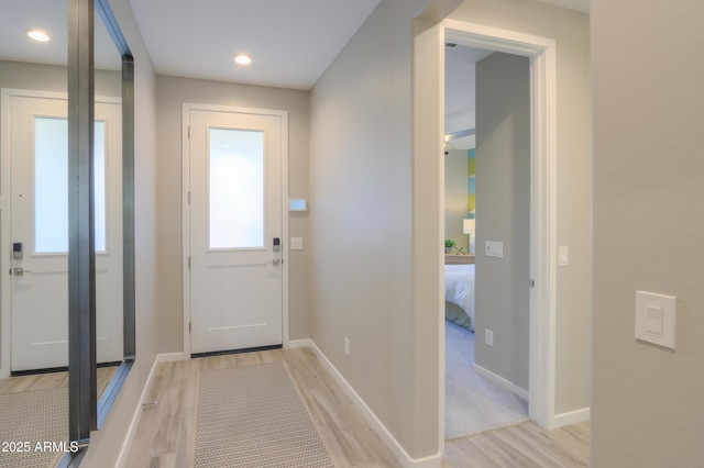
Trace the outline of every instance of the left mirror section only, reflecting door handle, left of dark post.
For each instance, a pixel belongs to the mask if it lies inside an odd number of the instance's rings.
[[[13,275],[0,276],[0,439],[32,446],[1,453],[0,466],[47,466],[57,454],[34,444],[67,442],[69,417],[67,13],[65,1],[7,3],[0,15],[0,256]],[[31,40],[33,30],[48,41]]]

